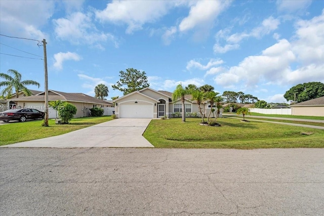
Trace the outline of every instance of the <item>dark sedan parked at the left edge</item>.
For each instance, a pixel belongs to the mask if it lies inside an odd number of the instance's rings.
[[[44,118],[45,112],[36,109],[9,109],[0,112],[0,120],[8,122],[11,120],[26,121],[27,119]]]

